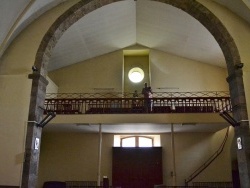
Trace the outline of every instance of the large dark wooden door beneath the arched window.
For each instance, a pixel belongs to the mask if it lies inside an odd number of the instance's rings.
[[[162,184],[162,148],[113,148],[112,185],[153,188]]]

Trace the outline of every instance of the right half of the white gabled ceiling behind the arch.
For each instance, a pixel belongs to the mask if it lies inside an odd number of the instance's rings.
[[[196,19],[170,5],[138,2],[138,43],[177,56],[225,67],[225,59],[218,43]]]

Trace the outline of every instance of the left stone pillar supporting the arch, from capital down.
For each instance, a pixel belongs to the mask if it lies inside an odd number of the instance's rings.
[[[22,188],[37,187],[42,128],[37,126],[43,119],[43,105],[48,81],[38,72],[29,75],[32,81],[29,117],[27,124]]]

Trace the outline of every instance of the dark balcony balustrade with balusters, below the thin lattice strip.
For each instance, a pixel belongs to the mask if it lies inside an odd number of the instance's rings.
[[[47,112],[54,111],[57,114],[213,113],[221,110],[232,111],[230,97],[47,98],[44,109]]]

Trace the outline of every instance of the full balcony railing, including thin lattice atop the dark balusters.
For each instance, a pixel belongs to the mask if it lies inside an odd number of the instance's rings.
[[[57,114],[213,113],[231,112],[228,92],[154,93],[153,98],[131,93],[48,94],[45,112]]]

